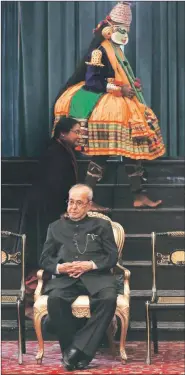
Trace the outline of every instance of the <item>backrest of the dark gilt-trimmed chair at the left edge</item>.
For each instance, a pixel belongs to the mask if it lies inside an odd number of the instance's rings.
[[[12,252],[6,246],[6,239],[12,237],[17,242],[17,251]],[[3,249],[1,250],[1,271],[2,271],[2,303],[8,302],[11,291],[19,291],[19,296],[23,300],[25,294],[25,248],[26,235],[9,231],[1,231]],[[15,293],[14,293],[15,294]],[[7,299],[7,301],[6,301]]]

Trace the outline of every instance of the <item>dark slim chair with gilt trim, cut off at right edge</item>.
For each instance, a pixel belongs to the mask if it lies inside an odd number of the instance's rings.
[[[163,254],[157,252],[156,241],[160,238],[175,239],[174,245],[172,244],[173,250]],[[181,243],[178,243],[180,238]],[[184,239],[185,232],[183,231],[163,233],[152,232],[152,297],[151,300],[146,301],[145,304],[147,336],[146,363],[149,365],[151,364],[151,323],[154,353],[158,353],[157,312],[170,309],[184,311],[185,308],[185,295],[181,295],[181,290],[179,289],[179,287],[183,287],[184,289]],[[173,246],[175,246],[175,249]],[[176,267],[176,270],[174,270],[174,267]],[[161,276],[159,273],[161,273]],[[168,285],[171,284],[172,290],[166,290],[165,295],[161,295],[160,289],[164,282]]]

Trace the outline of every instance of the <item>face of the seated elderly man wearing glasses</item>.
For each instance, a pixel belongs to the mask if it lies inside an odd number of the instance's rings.
[[[86,216],[91,207],[91,201],[88,200],[88,194],[82,189],[71,191],[68,199],[67,212],[72,220],[78,220]]]

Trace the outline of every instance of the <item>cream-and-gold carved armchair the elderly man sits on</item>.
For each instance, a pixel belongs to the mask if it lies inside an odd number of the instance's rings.
[[[89,216],[100,217],[105,220],[109,220],[111,222],[115,241],[118,247],[119,252],[119,259],[122,258],[122,249],[125,240],[125,234],[123,227],[117,223],[111,221],[111,219],[101,213],[97,212],[88,212]],[[120,335],[120,356],[121,360],[126,361],[127,355],[125,352],[125,341],[129,323],[129,303],[130,303],[130,287],[129,287],[129,279],[130,279],[130,271],[124,268],[117,263],[114,270],[112,270],[118,277],[118,282],[120,282],[120,276],[122,278],[122,291],[118,290],[118,297],[117,297],[117,307],[115,315],[120,318],[121,322],[121,335]],[[41,320],[43,316],[47,315],[47,295],[42,295],[42,289],[44,286],[44,271],[39,270],[37,272],[38,277],[38,285],[35,290],[35,303],[34,303],[34,326],[35,332],[38,339],[39,349],[36,355],[37,363],[42,363],[42,358],[44,355],[44,340],[42,337],[42,330],[41,330]],[[72,304],[72,313],[77,318],[89,318],[90,317],[90,306],[89,306],[89,297],[88,296],[79,296]],[[115,321],[115,319],[113,320]],[[115,325],[114,322],[110,325],[107,336],[109,339],[109,344],[111,347],[112,354],[115,355],[115,343],[114,343],[114,333],[115,333]]]

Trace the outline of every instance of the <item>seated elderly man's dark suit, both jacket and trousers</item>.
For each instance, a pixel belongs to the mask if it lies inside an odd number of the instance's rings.
[[[88,216],[80,221],[62,217],[50,224],[40,266],[56,275],[47,282],[44,293],[49,294],[48,314],[62,350],[73,343],[85,354],[94,356],[116,308],[116,280],[111,268],[117,259],[117,246],[108,221]],[[75,260],[92,260],[97,269],[78,279],[57,274],[58,263]],[[82,294],[90,297],[91,318],[76,333],[71,303]]]

